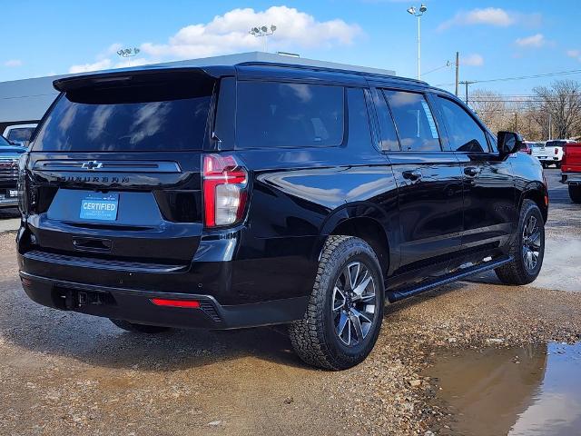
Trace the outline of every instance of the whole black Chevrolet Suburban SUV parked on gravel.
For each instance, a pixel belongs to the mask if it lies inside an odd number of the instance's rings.
[[[244,63],[54,87],[19,169],[35,302],[136,332],[289,324],[301,359],[340,370],[386,302],[541,268],[540,163],[426,83]]]

